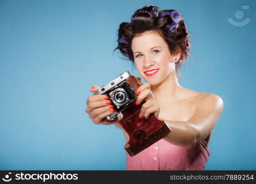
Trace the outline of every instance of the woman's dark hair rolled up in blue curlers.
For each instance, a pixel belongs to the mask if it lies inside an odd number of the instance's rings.
[[[168,44],[171,55],[173,55],[176,46],[180,48],[180,59],[176,63],[176,69],[182,60],[187,58],[190,42],[182,16],[177,10],[161,10],[158,12],[157,6],[144,6],[134,12],[130,23],[123,22],[120,24],[118,46],[115,50],[120,50],[123,56],[134,63],[131,41],[133,37],[139,36],[145,31],[157,31]]]

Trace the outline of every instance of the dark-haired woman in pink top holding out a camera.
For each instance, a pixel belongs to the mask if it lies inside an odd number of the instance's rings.
[[[165,138],[138,153],[126,153],[127,170],[203,170],[209,157],[209,139],[223,109],[222,99],[211,93],[188,90],[179,85],[177,70],[187,58],[190,47],[188,31],[176,10],[158,12],[156,6],[145,6],[134,12],[131,23],[118,30],[120,52],[134,62],[146,81],[138,91],[143,99],[140,118],[154,113],[165,121],[171,132]],[[93,86],[95,92],[98,86]],[[96,124],[114,110],[104,95],[87,100],[87,113]],[[122,117],[118,117],[120,121]],[[114,124],[122,128],[120,123]],[[125,139],[129,137],[123,131]]]

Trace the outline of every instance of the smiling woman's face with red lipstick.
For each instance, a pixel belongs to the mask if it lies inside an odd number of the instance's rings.
[[[134,37],[131,49],[139,75],[150,85],[158,85],[175,71],[168,45],[156,31],[147,31]]]

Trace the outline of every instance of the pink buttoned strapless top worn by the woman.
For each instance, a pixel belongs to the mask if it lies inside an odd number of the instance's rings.
[[[126,152],[126,170],[204,170],[209,156],[205,140],[185,148],[161,139],[135,156]]]

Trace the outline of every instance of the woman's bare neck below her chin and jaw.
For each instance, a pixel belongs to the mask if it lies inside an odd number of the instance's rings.
[[[177,91],[181,86],[177,80],[176,72],[172,72],[166,79],[158,85],[150,86],[153,95],[158,102],[174,101],[177,96]]]

